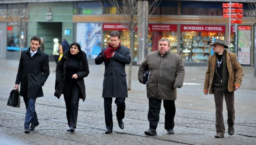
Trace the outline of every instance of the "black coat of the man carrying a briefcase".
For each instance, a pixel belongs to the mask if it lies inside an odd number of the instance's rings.
[[[30,47],[22,51],[15,84],[20,84],[20,96],[38,98],[44,96],[42,86],[50,74],[48,55],[38,48],[33,57]]]

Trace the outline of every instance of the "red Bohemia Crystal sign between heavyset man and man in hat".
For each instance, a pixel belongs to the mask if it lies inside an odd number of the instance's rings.
[[[224,25],[181,25],[181,31],[225,32]]]

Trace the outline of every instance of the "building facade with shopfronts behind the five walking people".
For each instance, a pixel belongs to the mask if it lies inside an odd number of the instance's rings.
[[[21,0],[24,10],[18,10],[17,0],[0,2],[0,57],[19,59],[20,47],[29,46],[30,37],[44,38],[44,51],[52,55],[52,39],[65,38],[80,43],[88,58],[95,58],[108,45],[110,32],[120,31],[121,43],[130,47],[130,33],[118,23],[117,10],[108,0]],[[27,2],[26,2],[27,1]],[[238,2],[237,0],[231,0]],[[138,49],[149,53],[158,49],[158,40],[170,40],[170,51],[181,56],[185,65],[206,65],[212,54],[208,45],[213,39],[228,43],[228,19],[223,18],[222,3],[229,0],[162,0],[148,16],[146,48],[138,45],[140,33],[135,31],[134,62]],[[256,14],[244,6],[242,24],[231,26],[230,51],[238,55],[242,65],[254,65],[254,27]],[[15,11],[23,12],[22,15]],[[20,14],[20,13],[19,13]],[[141,27],[139,27],[142,29]],[[22,35],[23,34],[23,35]],[[21,38],[23,37],[23,38]]]

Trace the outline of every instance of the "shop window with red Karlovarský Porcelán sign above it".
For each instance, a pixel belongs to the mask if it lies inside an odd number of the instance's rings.
[[[149,24],[148,29],[148,53],[158,50],[162,38],[170,40],[170,51],[177,53],[177,25]]]

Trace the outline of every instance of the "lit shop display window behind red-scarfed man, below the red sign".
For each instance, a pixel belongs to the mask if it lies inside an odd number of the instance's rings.
[[[103,47],[108,46],[108,43],[110,43],[110,33],[115,30],[106,30],[103,31],[104,33],[104,42]],[[128,47],[130,49],[130,32],[128,30],[119,30],[120,33],[120,43],[121,45],[124,45],[125,47]],[[137,51],[138,51],[138,41],[137,41],[137,31],[134,32],[134,60],[137,58]]]

